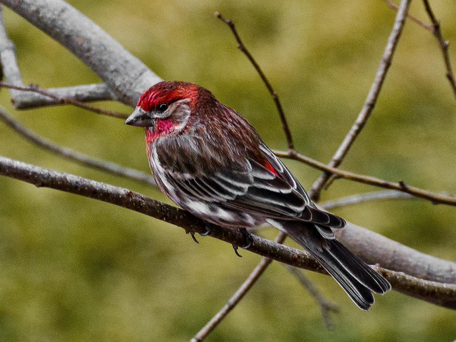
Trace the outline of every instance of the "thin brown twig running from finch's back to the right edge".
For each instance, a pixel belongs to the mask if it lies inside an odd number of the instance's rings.
[[[350,180],[357,181],[357,182],[364,183],[364,184],[375,185],[375,186],[384,187],[387,189],[398,190],[398,191],[401,191],[401,192],[404,192],[404,193],[407,193],[407,194],[410,194],[410,195],[413,195],[416,197],[421,197],[426,200],[430,200],[434,204],[443,203],[443,204],[448,204],[448,205],[456,205],[456,197],[454,197],[454,196],[448,196],[445,194],[427,191],[427,190],[421,189],[419,187],[410,186],[408,184],[405,184],[403,181],[390,182],[390,181],[380,179],[380,178],[375,178],[375,177],[371,177],[371,176],[360,175],[360,174],[349,172],[349,171],[339,170],[339,169],[336,169],[333,167],[329,167],[326,164],[323,164],[312,158],[303,156],[303,155],[295,153],[295,152],[290,153],[290,151],[275,150],[274,153],[278,157],[297,160],[302,163],[311,165],[314,168],[319,169],[321,171],[328,172],[329,174],[335,174],[338,178],[345,178],[345,179],[350,179]]]

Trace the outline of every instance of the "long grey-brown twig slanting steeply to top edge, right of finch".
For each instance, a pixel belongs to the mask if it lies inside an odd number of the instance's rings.
[[[407,16],[408,7],[410,5],[410,0],[402,0],[399,10],[394,21],[393,29],[391,30],[390,36],[388,38],[388,43],[383,53],[380,65],[378,66],[377,72],[375,74],[375,79],[370,87],[369,93],[367,94],[366,101],[364,102],[363,108],[361,109],[358,118],[353,124],[352,128],[348,132],[344,141],[337,148],[336,153],[329,162],[330,167],[338,167],[344,157],[347,155],[350,147],[355,141],[358,134],[363,129],[364,125],[367,122],[367,119],[372,112],[375,102],[377,101],[378,94],[382,89],[383,82],[385,81],[387,71],[391,65],[391,60],[393,58],[394,51],[396,50],[397,43],[399,42],[399,37],[401,36],[402,28],[405,23],[405,18]],[[323,186],[325,185],[328,178],[331,176],[330,173],[324,172],[312,185],[312,188],[309,192],[309,195],[312,199],[318,201],[320,197],[320,192]]]

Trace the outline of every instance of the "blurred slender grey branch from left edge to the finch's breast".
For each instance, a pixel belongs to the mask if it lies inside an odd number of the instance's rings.
[[[55,142],[52,142],[44,137],[41,137],[40,135],[37,135],[35,132],[27,129],[17,120],[13,119],[10,115],[8,115],[7,111],[2,106],[0,106],[0,121],[3,121],[8,127],[10,127],[12,130],[14,130],[17,134],[19,134],[26,140],[66,160],[76,162],[78,164],[90,167],[95,170],[128,178],[137,181],[141,184],[144,184],[144,182],[146,182],[150,185],[157,186],[154,177],[144,172],[123,167],[116,163],[89,157],[70,148],[62,147],[56,144]]]

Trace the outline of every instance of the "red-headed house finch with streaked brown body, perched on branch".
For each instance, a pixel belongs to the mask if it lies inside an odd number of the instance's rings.
[[[256,130],[207,89],[157,83],[126,124],[145,127],[150,169],[177,205],[222,226],[273,225],[312,253],[363,310],[374,302],[371,291],[391,288],[334,238],[331,229],[345,220],[319,210]]]

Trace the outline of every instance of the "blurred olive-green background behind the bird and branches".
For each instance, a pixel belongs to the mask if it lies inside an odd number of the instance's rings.
[[[250,121],[272,148],[286,148],[273,101],[229,29],[277,90],[296,148],[329,161],[370,88],[395,11],[381,0],[336,2],[71,1],[165,80],[210,89]],[[432,2],[456,68],[456,3]],[[420,1],[411,14],[428,22]],[[8,9],[7,31],[24,83],[99,82],[77,58]],[[115,58],[115,56],[113,56]],[[13,111],[63,146],[148,172],[143,133],[70,106]],[[408,21],[384,89],[343,168],[456,193],[456,111],[433,35]],[[117,103],[97,103],[130,112]],[[170,203],[147,186],[73,165],[0,124],[0,155],[125,186]],[[309,188],[320,172],[285,161]],[[373,191],[337,180],[322,200]],[[0,178],[0,339],[188,340],[260,260],[113,205]],[[456,211],[424,200],[378,201],[335,210],[407,246],[456,261]],[[274,238],[273,229],[264,236]],[[287,241],[294,245],[292,241]],[[208,340],[453,340],[456,312],[391,291],[369,312],[326,276],[307,272],[340,306],[326,330],[314,300],[283,265],[270,269]]]

